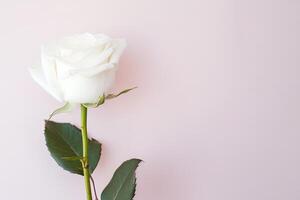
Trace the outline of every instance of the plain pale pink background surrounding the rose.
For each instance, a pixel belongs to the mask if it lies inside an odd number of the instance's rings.
[[[297,0],[2,2],[1,199],[84,199],[44,145],[60,104],[27,68],[46,41],[103,32],[129,44],[113,91],[139,88],[89,113],[98,193],[138,157],[136,200],[299,200],[299,13]]]

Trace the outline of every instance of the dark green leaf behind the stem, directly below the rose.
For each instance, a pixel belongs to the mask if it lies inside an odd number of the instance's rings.
[[[63,169],[83,175],[81,164],[81,130],[70,123],[46,121],[45,138],[51,156]],[[93,173],[100,159],[101,144],[95,139],[89,140],[89,170]]]

